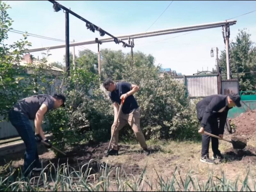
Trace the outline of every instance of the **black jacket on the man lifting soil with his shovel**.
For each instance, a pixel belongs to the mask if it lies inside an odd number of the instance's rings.
[[[218,112],[223,107],[226,107],[222,112]],[[211,95],[200,100],[196,104],[197,118],[201,121],[203,127],[206,126],[206,123],[210,116],[220,117],[220,134],[224,133],[224,126],[228,116],[228,96],[227,95]]]

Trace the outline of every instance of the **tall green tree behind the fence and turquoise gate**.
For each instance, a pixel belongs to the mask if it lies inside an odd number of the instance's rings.
[[[256,88],[256,75],[250,73],[256,71],[256,47],[250,39],[251,34],[244,30],[239,30],[235,42],[230,43],[230,70],[231,73],[239,74],[240,91],[255,90]],[[226,79],[227,64],[226,52],[221,51],[220,55],[220,68],[222,71],[222,78]],[[236,78],[237,75],[232,75]]]

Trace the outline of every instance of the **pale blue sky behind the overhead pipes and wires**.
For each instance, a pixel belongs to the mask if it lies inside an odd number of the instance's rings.
[[[13,29],[65,40],[65,13],[53,12],[52,3],[48,1],[4,2],[12,7],[8,13],[14,20]],[[57,2],[115,36],[146,31],[171,3],[171,1]],[[256,1],[173,1],[148,31],[218,22],[254,10],[256,10]],[[235,39],[238,29],[247,28],[246,31],[252,34],[252,41],[256,42],[256,12],[232,20],[237,20],[237,23],[230,27],[230,40]],[[97,31],[92,33],[86,29],[85,23],[73,15],[69,16],[69,21],[70,41],[102,38]],[[156,64],[161,63],[162,67],[171,68],[185,75],[192,75],[197,72],[197,69],[202,70],[202,68],[211,70],[216,59],[216,53],[214,58],[210,57],[211,48],[218,47],[220,51],[225,49],[221,28],[204,29],[180,36],[182,34],[184,33],[135,39],[133,50],[152,54]],[[10,32],[7,43],[12,43],[21,37],[21,34]],[[108,36],[105,35],[105,37]],[[63,44],[32,36],[28,37],[28,40],[32,42],[30,48]],[[84,47],[97,52],[97,44],[84,45]],[[130,48],[123,48],[121,44],[114,42],[102,44],[100,48],[130,52]],[[79,50],[83,49],[75,48],[76,55]],[[63,62],[65,48],[50,50],[50,53],[52,54],[49,56],[50,62]],[[32,54],[42,57],[42,52]]]

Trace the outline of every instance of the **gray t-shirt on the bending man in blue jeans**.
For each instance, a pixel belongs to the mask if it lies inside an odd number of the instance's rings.
[[[47,106],[47,112],[53,108],[54,100],[51,95],[34,95],[25,99],[19,100],[13,107],[15,111],[20,111],[30,120],[34,120],[36,112],[42,104]]]

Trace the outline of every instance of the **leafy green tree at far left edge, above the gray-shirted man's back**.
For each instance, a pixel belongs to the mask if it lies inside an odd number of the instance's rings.
[[[13,20],[7,14],[11,7],[0,2],[0,116],[7,116],[7,112],[17,100],[31,93],[27,89],[29,81],[22,75],[24,67],[20,66],[21,56],[26,46],[31,44],[26,40],[26,34],[13,44],[5,44]]]

